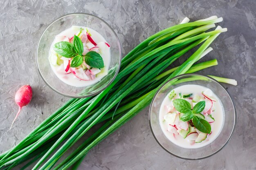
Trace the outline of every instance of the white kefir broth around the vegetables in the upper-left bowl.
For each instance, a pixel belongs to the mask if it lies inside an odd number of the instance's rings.
[[[107,41],[103,38],[103,36],[100,33],[98,33],[97,31],[95,31],[91,28],[88,28],[88,27],[72,26],[71,28],[66,29],[65,31],[58,34],[58,36],[72,37],[74,34],[77,34],[79,32],[80,28],[83,29],[82,33],[84,33],[84,34],[86,34],[85,31],[87,29],[89,31],[89,33],[91,34],[91,37],[94,40],[94,42],[96,42],[97,46],[99,46],[100,55],[103,58],[103,62],[104,62],[104,70],[108,71],[108,68],[110,65],[110,48],[105,44],[105,42],[107,42]],[[55,38],[54,42],[52,43],[52,46],[57,42],[60,42],[60,41],[56,40],[56,38]],[[50,53],[53,52],[52,46],[50,49]],[[50,55],[50,53],[49,53],[49,55]],[[56,66],[53,66],[52,64],[50,64],[50,65],[51,65],[52,70],[54,71],[55,75],[61,81],[63,81],[64,83],[66,83],[70,86],[75,86],[75,87],[89,86],[89,85],[95,84],[96,82],[99,82],[99,80],[104,77],[104,75],[101,75],[101,76],[95,77],[95,79],[93,79],[93,80],[84,81],[84,80],[78,79],[72,73],[66,74],[63,64],[56,65]]]

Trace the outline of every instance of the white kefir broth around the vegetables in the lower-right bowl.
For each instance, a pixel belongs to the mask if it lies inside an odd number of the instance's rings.
[[[201,94],[203,91],[207,90],[208,88],[200,85],[195,84],[187,84],[183,86],[179,86],[175,89],[173,89],[176,93],[176,98],[179,93],[183,94],[191,94],[197,95]],[[171,93],[171,92],[170,92]],[[170,94],[169,93],[169,94]],[[159,123],[162,128],[162,131],[164,132],[164,135],[171,141],[173,144],[176,144],[177,146],[180,146],[182,148],[200,148],[203,146],[206,146],[210,144],[216,137],[219,135],[222,124],[224,121],[224,111],[222,104],[220,102],[220,99],[213,94],[212,97],[217,99],[216,102],[213,102],[213,106],[215,107],[215,111],[211,113],[212,117],[215,119],[213,123],[211,123],[211,135],[208,135],[207,138],[202,141],[201,143],[191,143],[191,141],[184,139],[180,135],[173,135],[173,133],[167,131],[168,123],[164,121],[164,115],[167,114],[165,110],[165,106],[169,105],[171,103],[171,100],[169,99],[169,94],[164,98],[164,101],[161,104],[160,110],[159,110]],[[193,95],[191,97],[193,97]]]

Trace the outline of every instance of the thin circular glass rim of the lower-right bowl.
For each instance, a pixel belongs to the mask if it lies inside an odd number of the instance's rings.
[[[222,145],[222,147],[220,147],[218,150],[216,150],[215,152],[211,153],[210,155],[207,155],[207,156],[204,156],[204,157],[198,157],[198,158],[187,158],[187,157],[181,157],[179,155],[176,155],[174,153],[172,153],[171,151],[169,151],[168,149],[166,149],[164,146],[162,146],[162,144],[158,141],[157,137],[155,136],[155,133],[153,131],[153,128],[152,128],[152,125],[151,125],[151,119],[150,119],[150,115],[151,115],[151,109],[152,109],[152,106],[153,106],[153,102],[155,100],[155,97],[157,96],[157,94],[159,93],[159,91],[168,83],[168,82],[171,82],[173,79],[177,79],[177,78],[180,78],[180,77],[184,77],[184,76],[192,76],[192,75],[196,75],[196,76],[201,76],[201,77],[206,77],[208,79],[211,79],[213,82],[216,82],[218,85],[220,85],[228,94],[230,100],[231,100],[231,103],[232,103],[232,106],[233,106],[233,109],[234,109],[234,126],[232,128],[232,131],[231,131],[231,134],[229,135],[229,138],[227,139],[227,141],[225,142],[224,145]],[[166,151],[168,152],[169,154],[175,156],[175,157],[178,157],[178,158],[181,158],[181,159],[186,159],[186,160],[200,160],[200,159],[205,159],[205,158],[209,158],[213,155],[215,155],[216,153],[218,153],[220,150],[222,150],[230,141],[231,137],[233,136],[234,134],[234,131],[235,131],[235,127],[236,127],[236,107],[235,107],[235,104],[234,104],[234,100],[232,99],[230,93],[227,91],[227,89],[225,88],[225,86],[223,86],[220,82],[218,82],[216,79],[212,78],[212,77],[209,77],[207,75],[203,75],[203,74],[199,74],[199,73],[186,73],[186,74],[182,74],[182,75],[177,75],[171,79],[169,79],[167,82],[165,82],[158,90],[157,92],[155,93],[153,99],[152,99],[152,102],[150,103],[150,108],[149,108],[149,115],[148,115],[148,119],[149,119],[149,126],[150,126],[150,130],[155,138],[155,140],[157,141],[157,143]],[[171,142],[171,141],[170,141]],[[180,146],[179,146],[180,147]],[[182,147],[180,147],[182,149]]]

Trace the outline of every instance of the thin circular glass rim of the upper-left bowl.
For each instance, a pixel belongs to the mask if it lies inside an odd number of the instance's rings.
[[[86,95],[86,96],[72,96],[72,95],[67,95],[65,93],[62,93],[60,91],[58,91],[57,89],[55,89],[54,87],[52,87],[47,81],[46,79],[44,78],[43,74],[41,73],[40,71],[40,68],[39,68],[39,63],[38,63],[38,47],[39,47],[39,42],[40,40],[42,39],[42,36],[44,35],[45,31],[47,31],[47,29],[52,25],[54,24],[56,21],[62,19],[62,18],[65,18],[66,16],[69,16],[69,15],[77,15],[77,14],[81,14],[81,15],[90,15],[94,18],[97,18],[98,20],[102,21],[103,23],[105,23],[109,28],[110,30],[114,33],[115,37],[117,38],[117,44],[118,44],[118,47],[119,47],[119,63],[118,63],[118,68],[117,68],[117,71],[115,73],[115,75],[113,76],[113,78],[110,80],[110,82],[104,87],[102,88],[100,91],[98,91],[97,93],[93,93],[91,95]],[[122,49],[121,49],[121,44],[120,44],[120,41],[119,41],[119,38],[117,36],[117,33],[115,33],[114,29],[112,29],[112,27],[106,22],[104,21],[103,19],[99,18],[98,16],[96,15],[92,15],[90,13],[67,13],[65,15],[61,15],[60,17],[56,18],[55,20],[53,20],[52,22],[50,22],[50,24],[44,29],[43,33],[41,33],[40,35],[40,38],[37,42],[37,45],[36,45],[36,66],[37,66],[37,69],[38,69],[38,72],[40,74],[40,76],[42,77],[43,81],[47,84],[47,86],[49,86],[49,88],[51,88],[53,91],[57,92],[58,94],[60,95],[63,95],[63,96],[66,96],[66,97],[71,97],[71,98],[85,98],[85,97],[91,97],[91,96],[94,96],[94,95],[97,95],[99,93],[101,93],[103,90],[105,90],[113,81],[114,79],[117,77],[117,74],[119,72],[119,69],[120,69],[120,66],[121,66],[121,60],[122,60]],[[64,82],[63,82],[64,83]]]

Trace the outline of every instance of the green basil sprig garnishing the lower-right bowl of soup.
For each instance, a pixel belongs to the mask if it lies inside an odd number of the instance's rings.
[[[211,133],[211,125],[208,121],[202,119],[196,114],[200,114],[205,108],[205,101],[198,102],[193,109],[188,101],[184,99],[175,99],[173,100],[173,106],[180,113],[184,113],[180,120],[189,121],[192,119],[192,122],[199,131],[204,133]]]

